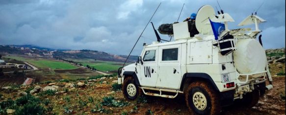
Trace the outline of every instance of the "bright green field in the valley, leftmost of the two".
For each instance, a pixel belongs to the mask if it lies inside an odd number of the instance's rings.
[[[16,57],[16,56],[4,56],[5,58],[10,58],[10,59],[16,59],[19,61],[23,62],[28,62],[32,65],[34,65],[37,68],[40,69],[77,69],[78,67],[66,63],[66,62],[60,62],[60,61],[55,61],[55,60],[47,60],[47,59],[27,59],[23,57]]]

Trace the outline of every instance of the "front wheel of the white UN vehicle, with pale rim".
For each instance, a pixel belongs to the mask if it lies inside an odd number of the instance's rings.
[[[124,97],[129,100],[134,100],[138,95],[141,94],[140,88],[135,84],[132,77],[127,77],[124,79],[122,91]]]

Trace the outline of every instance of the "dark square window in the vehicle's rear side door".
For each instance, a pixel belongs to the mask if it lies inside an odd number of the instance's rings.
[[[163,49],[162,61],[175,61],[178,60],[178,48]]]

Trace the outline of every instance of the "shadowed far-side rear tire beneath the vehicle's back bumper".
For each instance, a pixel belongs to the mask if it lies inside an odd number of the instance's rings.
[[[253,92],[246,93],[242,98],[242,103],[244,106],[251,108],[258,103],[259,100],[259,90],[254,90]]]

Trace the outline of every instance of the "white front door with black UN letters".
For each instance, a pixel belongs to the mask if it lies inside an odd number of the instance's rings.
[[[146,47],[142,54],[143,64],[140,65],[140,85],[155,87],[158,78],[158,46]]]

